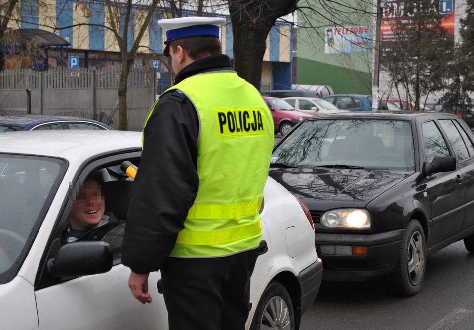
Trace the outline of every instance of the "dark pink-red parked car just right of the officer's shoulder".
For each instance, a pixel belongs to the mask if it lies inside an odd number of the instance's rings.
[[[263,96],[263,99],[272,112],[275,132],[280,132],[281,135],[288,133],[295,124],[311,117],[311,114],[296,111],[283,99],[268,96]]]

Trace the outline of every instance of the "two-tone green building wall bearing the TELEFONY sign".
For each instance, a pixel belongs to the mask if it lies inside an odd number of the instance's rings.
[[[371,94],[375,29],[370,2],[344,1],[350,9],[306,1],[312,9],[298,13],[294,82],[329,85],[335,94]]]

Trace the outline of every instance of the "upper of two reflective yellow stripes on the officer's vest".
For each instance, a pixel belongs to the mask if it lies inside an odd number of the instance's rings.
[[[193,205],[188,219],[234,219],[258,213],[262,200],[241,202],[234,205]]]

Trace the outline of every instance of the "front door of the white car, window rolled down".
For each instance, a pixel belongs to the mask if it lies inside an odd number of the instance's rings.
[[[98,167],[119,165],[124,160],[137,158],[138,152],[109,156],[90,163],[78,177],[85,177]],[[116,166],[115,166],[116,167]],[[95,173],[95,172],[94,172]],[[104,173],[104,178],[112,171]],[[115,177],[118,180],[117,176]],[[122,178],[123,179],[123,178]],[[65,196],[70,202],[72,197]],[[70,205],[65,202],[65,205]],[[106,197],[107,205],[107,197]],[[66,227],[70,207],[64,208],[60,221],[53,232],[50,247],[45,252],[44,264],[37,276],[35,297],[40,330],[49,329],[168,329],[164,299],[157,290],[159,272],[148,278],[151,304],[142,305],[130,293],[128,276],[130,269],[120,263],[120,255],[114,254],[114,266],[103,274],[79,276],[71,279],[54,279],[45,271],[47,260],[57,251],[59,235]],[[107,237],[107,235],[106,235]],[[77,243],[69,243],[77,244]],[[118,240],[119,248],[121,241]]]

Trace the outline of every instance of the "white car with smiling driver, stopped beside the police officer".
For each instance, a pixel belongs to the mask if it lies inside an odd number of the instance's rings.
[[[133,181],[120,164],[139,162],[140,133],[11,132],[0,140],[0,329],[168,329],[159,272],[149,277],[151,304],[130,293],[123,226],[102,242],[59,239],[76,183],[88,175],[101,183],[106,210],[125,220]],[[271,178],[261,215],[247,329],[297,329],[322,278],[313,222]]]

